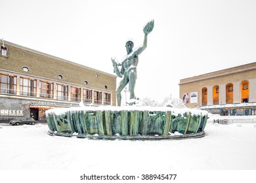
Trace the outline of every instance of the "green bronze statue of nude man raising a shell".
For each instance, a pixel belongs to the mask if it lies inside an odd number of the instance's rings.
[[[127,84],[129,84],[129,92],[130,92],[130,99],[135,99],[135,83],[137,79],[137,65],[139,62],[139,54],[141,54],[147,46],[148,41],[148,34],[153,30],[154,28],[154,20],[148,22],[144,26],[144,42],[143,45],[137,48],[133,51],[133,40],[129,39],[127,40],[125,47],[127,50],[127,56],[121,63],[117,63],[116,58],[111,58],[113,67],[114,67],[114,73],[120,78],[123,77],[121,82],[119,83],[119,86],[116,90],[117,95],[117,106],[121,106],[121,91]],[[119,69],[121,67],[121,69]]]

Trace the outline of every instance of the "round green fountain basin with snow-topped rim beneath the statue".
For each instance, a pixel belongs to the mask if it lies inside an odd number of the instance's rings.
[[[73,107],[46,111],[49,135],[161,140],[204,137],[207,112],[171,107]]]

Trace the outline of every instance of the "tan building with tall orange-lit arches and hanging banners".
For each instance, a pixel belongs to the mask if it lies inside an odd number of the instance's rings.
[[[256,62],[180,80],[187,107],[221,115],[256,115]]]

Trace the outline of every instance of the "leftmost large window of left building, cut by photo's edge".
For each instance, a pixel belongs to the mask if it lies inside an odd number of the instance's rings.
[[[16,94],[16,76],[0,74],[0,93]]]

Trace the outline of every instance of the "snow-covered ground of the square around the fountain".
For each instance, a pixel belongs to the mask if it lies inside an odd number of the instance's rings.
[[[98,141],[47,134],[47,124],[0,124],[4,170],[149,173],[256,170],[256,123],[205,127],[205,137],[177,141]]]

